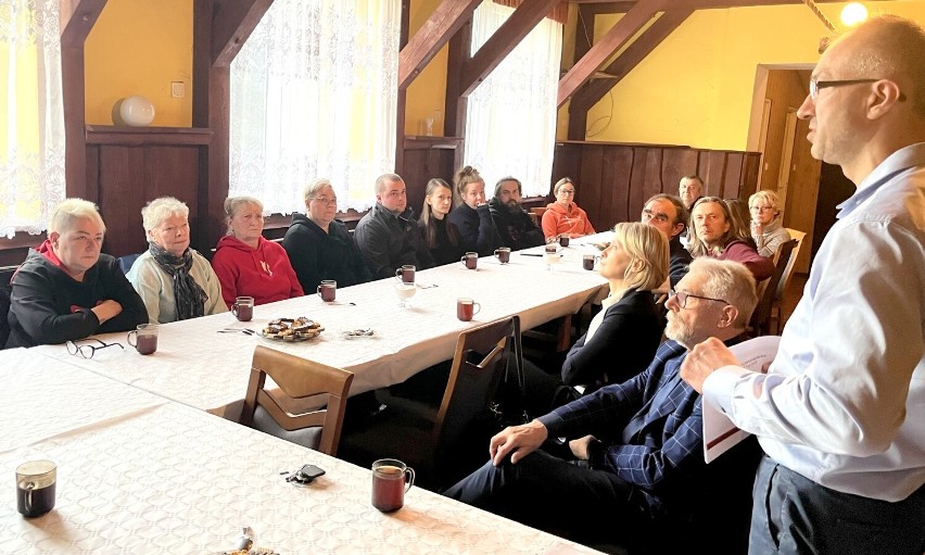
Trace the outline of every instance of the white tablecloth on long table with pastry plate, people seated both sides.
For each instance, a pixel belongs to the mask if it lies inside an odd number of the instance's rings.
[[[357,394],[400,383],[451,358],[459,332],[469,327],[518,314],[523,329],[529,329],[573,314],[588,301],[599,301],[607,292],[606,280],[581,265],[583,253],[598,251],[581,242],[563,249],[563,257],[553,270],[547,270],[542,257],[523,254],[542,252],[537,248],[511,253],[506,265],[483,257],[476,270],[456,263],[418,272],[417,282],[422,287],[408,308],[397,306],[395,280],[383,279],[339,289],[335,303],[309,294],[256,306],[250,323],[238,323],[226,313],[164,325],[157,352],[148,356],[128,346],[125,333],[98,336],[126,349],[98,351],[92,360],[69,355],[64,345],[30,351],[197,408],[220,412],[243,398],[254,346],[263,344],[353,371],[351,394]],[[456,318],[459,297],[471,297],[481,304],[471,323]],[[218,332],[229,327],[259,331],[274,318],[296,316],[321,323],[325,331],[317,339],[297,343]],[[376,335],[353,340],[342,336],[346,330],[366,328]]]

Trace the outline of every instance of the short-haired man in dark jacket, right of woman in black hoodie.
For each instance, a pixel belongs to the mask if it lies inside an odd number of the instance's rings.
[[[395,174],[376,179],[376,205],[356,224],[353,237],[376,279],[394,277],[395,268],[405,264],[417,269],[433,267],[408,206],[405,181]]]

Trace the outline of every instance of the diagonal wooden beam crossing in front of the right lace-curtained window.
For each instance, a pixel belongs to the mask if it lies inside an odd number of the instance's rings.
[[[463,67],[461,96],[468,97],[559,0],[524,0]]]

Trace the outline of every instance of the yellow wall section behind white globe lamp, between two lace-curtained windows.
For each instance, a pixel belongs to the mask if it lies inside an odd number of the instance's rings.
[[[86,118],[112,125],[113,104],[130,94],[154,104],[152,126],[192,125],[192,0],[109,0],[87,38]],[[170,81],[186,97],[170,98]]]

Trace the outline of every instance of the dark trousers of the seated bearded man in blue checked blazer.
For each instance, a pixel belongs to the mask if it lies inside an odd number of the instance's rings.
[[[575,541],[618,540],[647,530],[635,488],[613,472],[534,451],[516,465],[491,461],[444,495]]]

